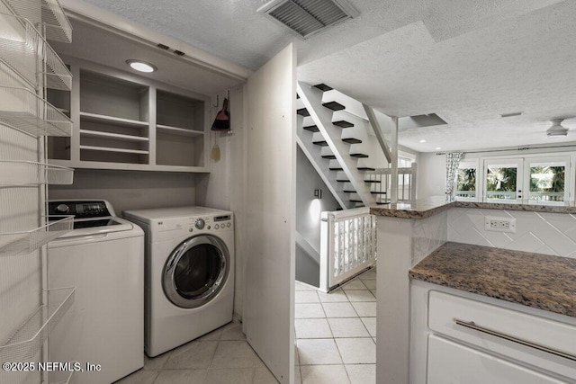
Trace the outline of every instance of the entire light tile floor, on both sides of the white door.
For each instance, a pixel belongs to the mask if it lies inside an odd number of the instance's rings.
[[[296,384],[375,383],[375,269],[330,293],[296,282]],[[155,358],[116,384],[275,384],[277,380],[229,323]]]

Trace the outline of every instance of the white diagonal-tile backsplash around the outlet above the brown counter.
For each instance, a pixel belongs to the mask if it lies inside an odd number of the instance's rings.
[[[484,217],[516,219],[517,232],[484,229]],[[447,212],[447,239],[477,246],[576,258],[576,217],[564,213],[454,208]]]

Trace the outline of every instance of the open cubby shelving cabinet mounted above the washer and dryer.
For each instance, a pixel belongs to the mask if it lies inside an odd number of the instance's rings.
[[[75,168],[207,172],[209,97],[74,58],[71,99],[49,101],[75,120],[50,138],[49,158]]]

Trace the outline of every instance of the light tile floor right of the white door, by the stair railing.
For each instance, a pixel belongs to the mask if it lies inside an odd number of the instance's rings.
[[[296,282],[296,383],[376,382],[376,270],[323,293]]]

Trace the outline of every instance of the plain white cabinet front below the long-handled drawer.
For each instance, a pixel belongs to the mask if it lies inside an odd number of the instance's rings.
[[[512,362],[435,335],[428,336],[428,384],[562,383]]]

